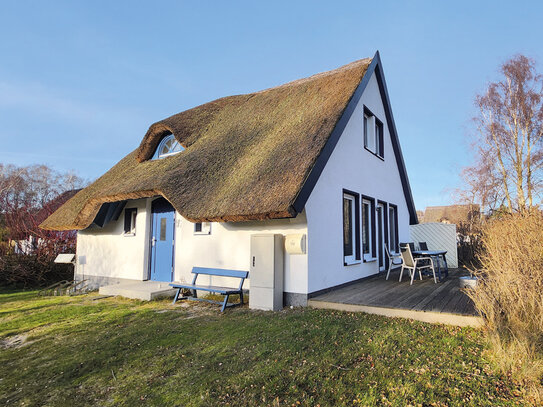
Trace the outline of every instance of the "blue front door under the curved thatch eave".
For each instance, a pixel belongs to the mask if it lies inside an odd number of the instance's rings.
[[[164,198],[152,203],[151,272],[154,281],[172,281],[175,210]]]

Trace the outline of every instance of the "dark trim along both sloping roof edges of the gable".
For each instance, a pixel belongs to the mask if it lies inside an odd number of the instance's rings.
[[[330,159],[330,156],[332,155],[332,152],[334,151],[334,148],[336,147],[340,136],[343,134],[343,131],[345,130],[345,127],[347,126],[347,123],[349,122],[374,72],[376,73],[376,79],[377,83],[379,84],[381,98],[383,99],[383,105],[387,116],[389,133],[391,134],[394,155],[396,156],[396,163],[400,172],[403,193],[407,203],[407,208],[409,210],[409,223],[411,225],[415,225],[418,223],[417,211],[415,210],[415,203],[413,201],[413,195],[411,193],[411,186],[409,185],[409,179],[407,178],[405,162],[403,160],[402,150],[400,148],[400,142],[398,139],[398,133],[396,131],[396,125],[394,123],[394,117],[392,115],[392,108],[390,105],[390,99],[388,97],[388,90],[385,83],[385,76],[382,68],[381,58],[379,56],[379,51],[375,53],[370,63],[370,66],[364,73],[364,77],[354,91],[351,100],[345,108],[345,111],[336,123],[334,130],[332,130],[328,141],[326,142],[324,148],[319,154],[317,160],[315,161],[315,165],[311,169],[311,172],[305,180],[304,185],[302,186],[300,192],[298,193],[298,196],[292,204],[292,207],[296,211],[296,213],[300,213],[304,209],[305,204],[307,203],[307,200],[309,199],[309,196],[313,191],[313,188],[315,188],[315,185],[317,184],[317,181],[319,180],[319,177],[322,174],[326,163]]]

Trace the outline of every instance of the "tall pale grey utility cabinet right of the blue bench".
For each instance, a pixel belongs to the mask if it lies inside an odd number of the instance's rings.
[[[250,308],[283,308],[283,247],[283,235],[251,235]]]

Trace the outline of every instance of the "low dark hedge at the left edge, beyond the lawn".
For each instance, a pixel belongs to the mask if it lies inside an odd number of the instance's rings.
[[[39,288],[71,280],[71,264],[56,264],[49,256],[7,254],[0,256],[0,286]]]

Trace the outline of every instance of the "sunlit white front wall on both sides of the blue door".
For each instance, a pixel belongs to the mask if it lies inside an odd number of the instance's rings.
[[[128,201],[126,208],[138,208],[135,236],[124,235],[124,211],[116,222],[103,228],[79,231],[76,274],[107,279],[147,280],[151,199]],[[176,213],[174,280],[191,282],[194,266],[249,271],[252,234],[307,234],[305,213],[294,219],[261,222],[212,223],[211,234],[194,234],[194,224]],[[78,263],[80,263],[78,261]],[[307,294],[307,254],[284,256],[284,291]],[[107,284],[107,280],[104,280]],[[198,277],[202,284],[237,286],[239,279]],[[243,286],[250,287],[250,278]]]

